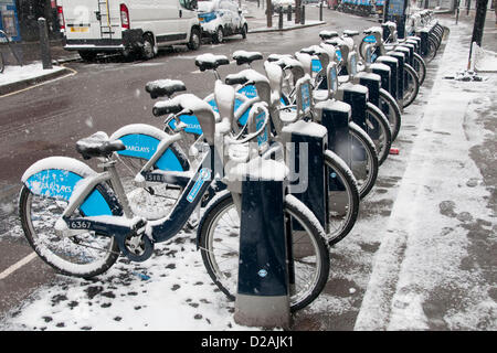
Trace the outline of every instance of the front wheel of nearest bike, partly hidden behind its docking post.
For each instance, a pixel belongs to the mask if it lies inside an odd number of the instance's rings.
[[[289,276],[290,310],[297,311],[313,302],[325,287],[329,275],[329,253],[322,238],[322,229],[316,220],[303,211],[303,203],[295,196],[284,200],[285,223],[296,222],[303,231],[293,231],[294,266]],[[293,223],[295,224],[295,223]],[[218,199],[201,223],[200,247],[203,264],[219,289],[235,299],[240,259],[240,216],[231,194]],[[289,270],[290,272],[290,270]]]

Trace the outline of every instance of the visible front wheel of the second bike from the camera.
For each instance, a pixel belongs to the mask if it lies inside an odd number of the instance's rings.
[[[335,245],[343,239],[356,224],[359,214],[360,195],[356,178],[343,160],[330,150],[326,150],[324,156],[328,178],[335,181],[338,179],[345,189],[343,191],[331,191],[328,188],[329,227],[326,229],[326,239],[328,245]],[[347,193],[347,205],[342,205],[340,192]],[[345,216],[340,217],[343,212]],[[339,223],[338,227],[332,226],[335,220]]]

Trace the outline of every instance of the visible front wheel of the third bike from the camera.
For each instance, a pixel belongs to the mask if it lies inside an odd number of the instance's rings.
[[[360,148],[366,153],[367,163],[363,164],[363,168],[362,163],[356,163],[353,160],[350,165],[353,176],[358,182],[359,197],[362,200],[369,194],[377,182],[380,163],[374,142],[364,130],[356,122],[350,122],[349,133],[351,137],[351,148]]]

